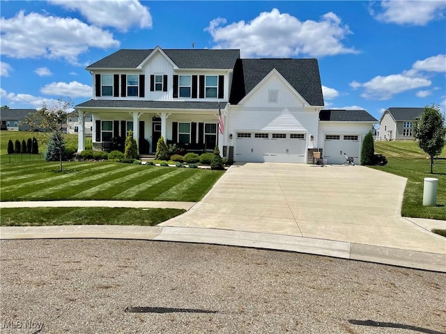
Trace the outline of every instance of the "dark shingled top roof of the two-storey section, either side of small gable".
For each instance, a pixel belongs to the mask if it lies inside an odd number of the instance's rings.
[[[240,57],[238,49],[163,49],[179,68],[232,69]],[[121,49],[86,68],[136,68],[153,49]]]

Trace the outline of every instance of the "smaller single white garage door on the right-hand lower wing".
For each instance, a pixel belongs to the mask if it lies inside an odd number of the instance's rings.
[[[360,163],[360,136],[351,134],[326,134],[323,157],[328,164],[344,164],[346,157],[353,157],[355,164]]]

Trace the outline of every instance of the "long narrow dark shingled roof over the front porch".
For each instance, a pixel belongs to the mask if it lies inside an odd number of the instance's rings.
[[[129,109],[207,109],[218,110],[218,102],[144,101],[144,100],[89,100],[77,104],[76,108],[129,108]],[[220,102],[224,109],[226,102]]]

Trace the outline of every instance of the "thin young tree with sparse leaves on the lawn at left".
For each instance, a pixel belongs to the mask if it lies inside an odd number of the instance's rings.
[[[59,170],[61,171],[63,170],[62,159],[65,153],[66,138],[68,136],[63,125],[66,125],[67,114],[71,107],[71,101],[63,101],[61,99],[49,106],[44,102],[41,109],[25,118],[26,123],[29,124],[31,129],[43,128],[48,131],[49,141],[47,150],[49,150],[49,143],[51,143],[52,152],[48,152],[48,154],[45,152],[45,159],[47,157],[54,159],[54,152],[58,152]]]

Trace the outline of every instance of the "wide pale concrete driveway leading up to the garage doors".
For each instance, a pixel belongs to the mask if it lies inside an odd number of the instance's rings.
[[[403,177],[363,166],[238,164],[190,211],[160,225],[445,254],[443,237],[400,216],[405,185]]]

